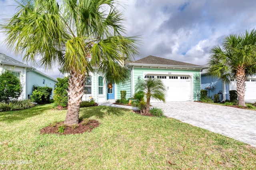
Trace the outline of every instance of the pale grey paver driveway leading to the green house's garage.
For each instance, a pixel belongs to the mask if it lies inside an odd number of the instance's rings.
[[[256,111],[199,102],[151,103],[167,117],[232,137],[256,147]]]

